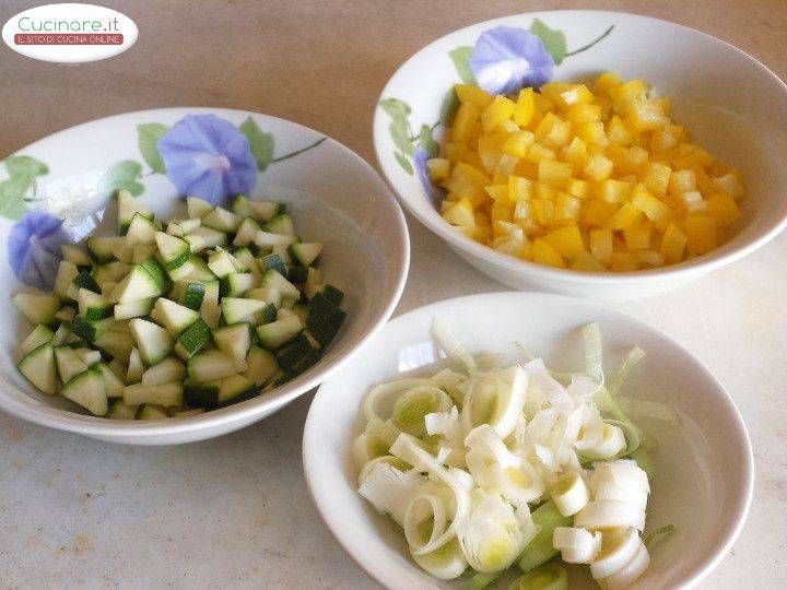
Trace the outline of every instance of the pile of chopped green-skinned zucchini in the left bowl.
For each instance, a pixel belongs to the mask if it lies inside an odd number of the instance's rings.
[[[13,297],[35,326],[19,370],[39,390],[109,418],[191,415],[292,379],[336,337],[343,293],[285,205],[189,197],[163,231],[117,200],[118,236],[62,246],[54,292]]]

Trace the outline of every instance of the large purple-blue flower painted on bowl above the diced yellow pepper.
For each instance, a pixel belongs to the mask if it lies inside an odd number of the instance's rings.
[[[492,95],[538,87],[549,82],[554,71],[554,60],[539,37],[505,25],[479,37],[469,66],[479,87]]]

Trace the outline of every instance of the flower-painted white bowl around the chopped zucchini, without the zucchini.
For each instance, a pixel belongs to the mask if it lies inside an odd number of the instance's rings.
[[[240,428],[321,382],[386,322],[401,295],[409,238],[401,209],[372,167],[299,125],[240,110],[167,108],[67,129],[8,156],[0,170],[0,410],[86,436],[140,445],[188,442]],[[326,244],[322,272],[342,288],[348,320],[317,365],[255,399],[168,421],[83,415],[19,374],[30,327],[11,305],[50,288],[63,243],[110,234],[117,189],[156,215],[185,212],[179,196],[224,203],[237,192],[286,202],[303,234]],[[26,286],[26,285],[30,285]]]

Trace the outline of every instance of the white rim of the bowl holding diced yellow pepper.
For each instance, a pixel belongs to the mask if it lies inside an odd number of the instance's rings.
[[[387,160],[386,151],[383,149],[383,139],[377,132],[377,129],[381,129],[381,126],[379,125],[383,111],[379,108],[379,103],[384,98],[388,96],[389,88],[391,86],[391,83],[393,80],[400,74],[402,69],[410,63],[411,61],[415,60],[420,56],[422,56],[424,52],[426,52],[428,49],[431,49],[434,45],[442,42],[446,37],[449,37],[451,35],[455,35],[457,33],[462,33],[467,30],[475,28],[479,26],[492,26],[496,24],[502,24],[508,19],[514,17],[527,17],[527,16],[544,16],[551,14],[561,14],[561,15],[572,15],[576,17],[582,17],[584,14],[609,14],[611,17],[614,16],[623,16],[623,17],[631,17],[635,20],[642,20],[642,21],[650,21],[653,23],[659,23],[662,25],[669,25],[673,27],[679,27],[682,30],[685,30],[686,32],[690,32],[692,34],[702,35],[703,37],[706,37],[707,39],[721,44],[728,49],[733,50],[735,52],[739,54],[742,58],[744,58],[751,66],[753,66],[755,69],[761,70],[765,75],[770,75],[775,82],[777,82],[782,86],[783,95],[787,99],[787,84],[777,76],[767,66],[759,61],[753,56],[749,55],[748,52],[743,51],[742,49],[736,47],[735,45],[727,43],[723,39],[719,39],[718,37],[715,37],[708,33],[704,33],[703,31],[693,28],[691,26],[682,25],[679,23],[674,23],[672,21],[667,21],[663,19],[656,19],[654,16],[646,16],[643,14],[634,14],[631,12],[621,12],[621,11],[611,11],[611,10],[545,10],[545,11],[533,11],[533,12],[519,12],[515,14],[507,14],[504,16],[498,16],[495,19],[490,19],[486,21],[481,21],[477,23],[472,23],[470,25],[463,26],[461,28],[457,28],[455,31],[451,31],[449,33],[446,33],[445,35],[442,35],[437,39],[434,39],[433,42],[428,43],[427,45],[423,46],[421,49],[415,51],[413,55],[411,55],[409,58],[407,58],[398,68],[397,70],[390,75],[388,81],[386,82],[385,86],[383,87],[383,91],[380,92],[379,96],[377,97],[377,102],[375,103],[375,116],[372,122],[372,143],[374,144],[375,149],[375,156],[377,158],[377,167],[381,170],[383,177],[385,178],[388,186],[390,186],[393,193],[397,196],[399,201],[404,205],[404,208],[413,215],[415,219],[418,219],[423,225],[425,225],[428,229],[437,234],[441,238],[443,238],[445,241],[449,244],[451,248],[462,250],[468,252],[469,255],[481,258],[485,262],[493,264],[497,268],[503,268],[507,272],[521,272],[525,275],[531,276],[537,280],[545,280],[550,282],[572,282],[572,283],[580,283],[580,284],[595,284],[595,285],[604,285],[604,286],[631,286],[631,285],[644,285],[644,284],[651,284],[651,283],[660,283],[665,281],[674,280],[678,281],[685,281],[690,278],[695,276],[700,273],[709,272],[716,269],[719,269],[721,267],[725,267],[727,264],[730,264],[737,260],[740,260],[744,256],[748,256],[752,253],[753,251],[757,250],[759,248],[762,248],[765,246],[768,241],[771,241],[773,238],[775,238],[782,231],[787,227],[787,203],[785,203],[785,206],[782,208],[780,212],[780,219],[767,231],[765,231],[762,235],[757,237],[753,237],[752,239],[739,245],[735,249],[731,249],[728,252],[724,253],[710,253],[703,255],[697,258],[686,260],[683,262],[679,262],[678,264],[670,264],[667,267],[661,267],[658,269],[644,269],[638,271],[627,271],[627,272],[588,272],[588,271],[576,271],[576,270],[569,270],[569,269],[556,269],[552,267],[547,267],[543,264],[537,264],[535,262],[530,262],[527,260],[520,260],[517,258],[514,258],[512,256],[505,255],[503,252],[498,252],[497,250],[490,248],[489,246],[484,246],[482,244],[479,244],[471,238],[467,237],[460,232],[457,232],[454,226],[448,224],[437,212],[437,210],[434,206],[420,206],[420,203],[418,203],[414,199],[411,200],[407,194],[409,194],[410,191],[406,194],[404,191],[399,190],[397,187],[397,184],[391,179],[390,175],[388,174],[387,167],[384,165],[384,161]]]

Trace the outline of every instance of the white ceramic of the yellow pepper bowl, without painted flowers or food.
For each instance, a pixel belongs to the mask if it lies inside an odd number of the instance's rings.
[[[591,48],[567,56],[555,68],[554,79],[574,81],[614,70],[624,79],[651,82],[659,93],[673,98],[672,115],[692,130],[695,141],[743,172],[749,191],[743,215],[737,235],[727,244],[661,270],[582,273],[517,260],[472,241],[441,217],[438,203],[419,177],[419,163],[401,154],[397,158],[400,148],[389,130],[392,119],[378,105],[374,144],[380,168],[404,206],[459,256],[516,288],[627,298],[666,291],[728,264],[763,246],[787,224],[787,169],[780,162],[787,145],[787,86],[751,56],[685,26],[600,11],[537,12],[486,21],[450,33],[412,56],[388,81],[380,101],[397,98],[409,106],[409,127],[415,133],[423,125],[435,125],[446,92],[460,82],[449,52],[474,46],[479,35],[498,25],[530,28],[535,19],[562,31],[569,51],[614,26]],[[442,130],[437,125],[435,138]],[[399,145],[409,150],[401,135]],[[404,168],[414,168],[414,173]]]

